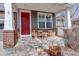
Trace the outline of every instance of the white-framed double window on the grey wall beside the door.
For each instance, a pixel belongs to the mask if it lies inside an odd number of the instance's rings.
[[[52,14],[38,13],[38,28],[52,28]]]

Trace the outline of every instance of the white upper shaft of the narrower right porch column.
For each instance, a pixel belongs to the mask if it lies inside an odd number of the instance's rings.
[[[70,16],[70,9],[68,8],[65,12],[65,29],[71,29],[72,24],[71,24],[71,16]]]

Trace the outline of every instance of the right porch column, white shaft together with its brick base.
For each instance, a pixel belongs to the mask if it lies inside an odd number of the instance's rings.
[[[68,8],[65,12],[65,21],[64,21],[64,37],[65,38],[69,38],[69,34],[71,32],[72,29],[72,24],[71,24],[71,16],[70,16],[70,9]]]

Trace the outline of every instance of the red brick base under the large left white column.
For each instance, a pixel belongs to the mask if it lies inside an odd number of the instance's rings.
[[[17,42],[17,32],[15,30],[3,31],[3,48],[13,48]]]

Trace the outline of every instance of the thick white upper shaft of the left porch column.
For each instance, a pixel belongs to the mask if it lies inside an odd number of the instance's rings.
[[[14,30],[12,4],[4,3],[4,8],[5,8],[4,30]]]

